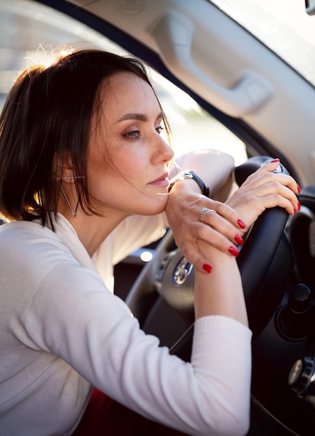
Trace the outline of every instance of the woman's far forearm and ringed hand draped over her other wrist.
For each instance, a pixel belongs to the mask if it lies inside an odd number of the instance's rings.
[[[238,235],[244,228],[243,220],[235,210],[222,203],[231,192],[233,158],[217,150],[199,150],[181,157],[176,164],[170,176],[183,169],[193,169],[210,191],[210,198],[207,198],[194,180],[176,182],[169,192],[166,208],[176,244],[197,270],[202,271],[209,259],[201,254],[197,240],[205,240],[225,253],[241,241]],[[213,217],[207,217],[210,221],[206,224],[201,223],[202,208],[216,210],[224,217],[220,228],[213,225]]]

